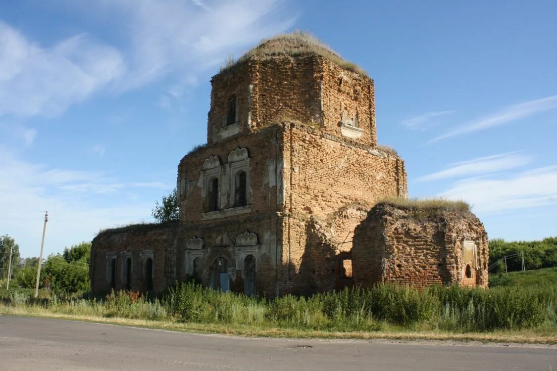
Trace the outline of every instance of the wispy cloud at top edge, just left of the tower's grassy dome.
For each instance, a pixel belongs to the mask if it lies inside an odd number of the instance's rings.
[[[177,80],[216,68],[229,53],[294,24],[278,0],[104,2],[130,39],[129,90],[175,73]]]

